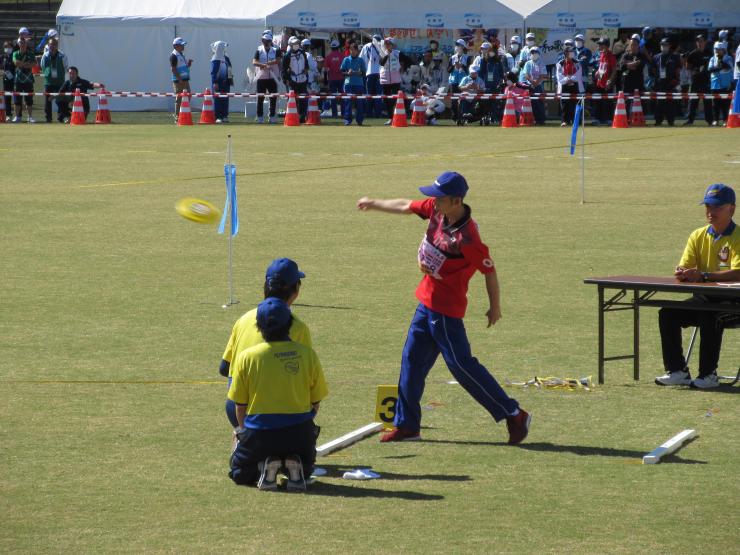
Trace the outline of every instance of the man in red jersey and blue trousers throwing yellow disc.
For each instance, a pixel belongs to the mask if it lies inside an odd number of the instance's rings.
[[[465,178],[445,172],[433,185],[419,187],[426,200],[381,200],[367,197],[357,201],[360,210],[392,214],[416,214],[429,220],[419,246],[419,269],[424,274],[416,289],[419,306],[409,327],[398,380],[395,428],[381,441],[421,439],[421,396],[424,381],[439,354],[458,383],[499,422],[506,419],[509,444],[527,437],[531,416],[519,408],[488,370],[470,352],[463,316],[467,306],[468,282],[476,270],[486,280],[490,301],[488,326],[501,319],[499,285],[488,247],[478,235],[478,226],[463,203],[468,192]]]

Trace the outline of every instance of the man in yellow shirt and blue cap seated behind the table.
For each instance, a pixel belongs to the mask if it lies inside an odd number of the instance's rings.
[[[735,191],[720,183],[710,185],[703,204],[709,225],[689,236],[675,276],[680,281],[740,281],[740,228],[732,220]],[[695,295],[694,302],[702,300]],[[712,302],[722,301],[713,295]],[[731,302],[730,299],[727,299]],[[662,308],[660,340],[666,374],[655,378],[658,385],[691,385],[700,389],[717,387],[717,363],[722,347],[721,312]],[[681,345],[681,328],[698,326],[701,335],[699,375],[693,381]]]

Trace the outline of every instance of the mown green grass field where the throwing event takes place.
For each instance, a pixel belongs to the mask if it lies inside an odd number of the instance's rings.
[[[223,203],[227,132],[241,304],[224,310],[227,241],[174,204]],[[0,552],[740,552],[740,388],[652,385],[653,311],[640,382],[625,362],[592,392],[507,388],[534,415],[521,448],[438,364],[425,441],[372,438],[320,459],[329,475],[309,495],[228,479],[216,371],[264,268],[290,256],[308,276],[295,311],[331,390],[321,440],[370,422],[375,387],[397,379],[424,224],[354,203],[416,196],[454,169],[502,285],[504,317],[487,330],[483,280],[471,282],[474,353],[501,381],[595,377],[596,290],[582,279],[671,272],[704,222],[704,188],[740,188],[740,134],[588,129],[585,205],[559,128],[5,125],[0,136]],[[628,350],[627,315],[610,315],[607,332],[609,354]],[[740,363],[738,337],[725,336],[722,373]],[[640,465],[684,428],[698,439]],[[382,478],[341,479],[358,466]]]

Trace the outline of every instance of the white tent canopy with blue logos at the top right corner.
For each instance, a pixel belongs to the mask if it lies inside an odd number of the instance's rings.
[[[502,0],[527,19],[528,27],[699,28],[740,26],[739,0]]]

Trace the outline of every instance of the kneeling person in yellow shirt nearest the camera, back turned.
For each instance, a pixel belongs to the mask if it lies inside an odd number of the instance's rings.
[[[276,298],[257,307],[257,327],[265,343],[237,356],[229,399],[236,403],[238,443],[229,477],[240,485],[276,489],[280,468],[288,489],[305,490],[316,461],[313,418],[328,391],[313,349],[291,341],[293,317]]]

